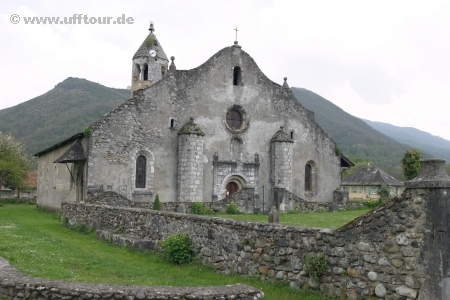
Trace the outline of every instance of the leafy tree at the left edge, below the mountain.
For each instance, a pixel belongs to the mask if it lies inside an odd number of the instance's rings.
[[[12,190],[24,187],[32,158],[11,133],[0,131],[0,186]]]

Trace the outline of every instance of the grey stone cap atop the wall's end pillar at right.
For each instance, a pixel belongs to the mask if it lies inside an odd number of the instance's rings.
[[[420,172],[417,177],[406,181],[406,188],[447,188],[450,187],[450,176],[445,171],[445,159],[421,159]]]

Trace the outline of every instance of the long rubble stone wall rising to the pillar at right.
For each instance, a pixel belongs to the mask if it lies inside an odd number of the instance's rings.
[[[423,161],[423,173],[407,183],[402,198],[339,230],[78,203],[63,203],[62,211],[69,224],[122,227],[154,246],[170,234],[188,233],[201,260],[223,273],[278,279],[349,299],[448,299],[450,178],[444,163]],[[329,262],[320,281],[303,269],[306,255],[318,253]]]

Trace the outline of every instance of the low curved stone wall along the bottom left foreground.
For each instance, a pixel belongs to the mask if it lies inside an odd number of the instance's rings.
[[[24,276],[0,257],[1,299],[263,299],[264,293],[247,285],[213,287],[148,287],[88,284]]]

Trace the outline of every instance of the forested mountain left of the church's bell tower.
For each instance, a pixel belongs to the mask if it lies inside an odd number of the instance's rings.
[[[82,132],[128,98],[130,90],[69,77],[41,96],[0,110],[0,131],[11,132],[34,154]]]

